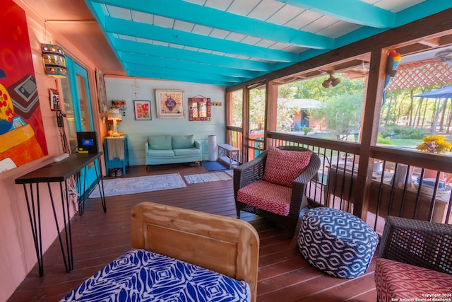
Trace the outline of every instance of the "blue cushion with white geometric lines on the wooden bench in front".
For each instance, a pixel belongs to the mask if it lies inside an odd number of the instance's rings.
[[[149,250],[131,250],[61,301],[251,301],[245,281]]]

